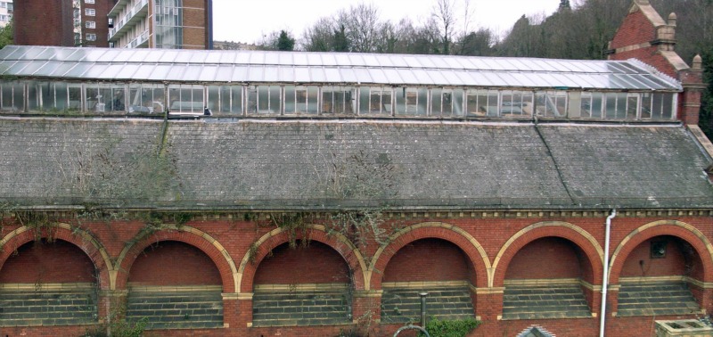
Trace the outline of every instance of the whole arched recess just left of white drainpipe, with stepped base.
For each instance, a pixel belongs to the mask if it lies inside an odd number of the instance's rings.
[[[591,317],[593,283],[593,267],[574,242],[529,242],[505,272],[503,319]]]

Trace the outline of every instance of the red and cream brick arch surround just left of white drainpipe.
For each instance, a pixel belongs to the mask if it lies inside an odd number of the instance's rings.
[[[515,254],[529,242],[545,237],[560,237],[573,242],[580,250],[585,252],[586,258],[589,259],[589,263],[592,266],[593,275],[602,275],[604,251],[592,234],[587,233],[579,226],[567,222],[544,221],[522,228],[505,242],[503,248],[498,251],[493,263],[494,273],[492,274],[492,279],[488,281],[488,285],[502,287],[505,272]],[[596,278],[593,281],[596,284]]]

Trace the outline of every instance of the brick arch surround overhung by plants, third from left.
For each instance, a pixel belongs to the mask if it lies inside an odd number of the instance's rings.
[[[322,242],[337,251],[341,257],[347,261],[352,273],[353,283],[356,290],[369,290],[365,284],[366,263],[362,253],[356,246],[342,234],[327,234],[326,228],[322,225],[307,226],[306,233],[298,231],[297,239],[306,238],[316,242]],[[238,292],[252,292],[255,273],[258,271],[260,262],[265,259],[270,251],[284,242],[290,242],[290,233],[283,228],[275,228],[263,235],[254,243],[257,251],[248,251],[242,258],[238,269]]]

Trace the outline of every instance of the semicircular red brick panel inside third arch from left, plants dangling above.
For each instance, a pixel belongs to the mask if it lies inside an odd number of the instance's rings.
[[[329,246],[309,242],[290,248],[285,243],[263,259],[255,274],[254,284],[332,284],[348,283],[347,262]]]

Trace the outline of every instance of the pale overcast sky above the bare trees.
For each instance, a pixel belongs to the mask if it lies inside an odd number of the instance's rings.
[[[463,4],[463,0],[455,2]],[[430,16],[436,0],[213,0],[213,38],[254,43],[281,29],[299,38],[319,18],[333,16],[359,3],[375,4],[381,20],[397,23],[408,17],[418,25]],[[474,7],[471,27],[494,29],[502,35],[522,14],[549,15],[559,5],[560,0],[471,0]],[[459,19],[459,25],[462,21]]]

